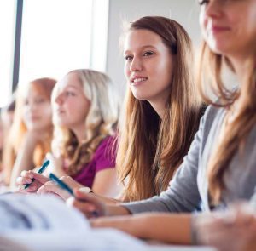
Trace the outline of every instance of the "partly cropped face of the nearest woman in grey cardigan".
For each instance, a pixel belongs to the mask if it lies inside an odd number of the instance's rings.
[[[199,0],[203,37],[213,52],[255,53],[256,0]]]

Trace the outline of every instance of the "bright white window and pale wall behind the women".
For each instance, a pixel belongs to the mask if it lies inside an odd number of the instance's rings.
[[[144,15],[177,20],[201,40],[194,0],[0,0],[0,107],[17,84],[67,71],[107,72],[124,94],[123,22]]]

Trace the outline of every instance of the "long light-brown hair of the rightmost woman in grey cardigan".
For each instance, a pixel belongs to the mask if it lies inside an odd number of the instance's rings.
[[[219,54],[214,54],[206,42],[202,43],[197,71],[201,96],[208,104],[224,107],[227,111],[232,109],[237,100],[236,117],[225,125],[225,137],[218,144],[216,148],[218,151],[213,151],[208,163],[209,195],[212,205],[220,202],[221,193],[225,189],[224,174],[234,154],[237,151],[242,154],[245,140],[256,123],[255,60],[245,62],[248,71],[245,72],[241,88],[235,90],[225,88],[221,80],[220,73],[224,60],[230,65],[229,60]],[[207,96],[205,81],[210,82],[212,92],[219,97],[218,101],[214,102]]]

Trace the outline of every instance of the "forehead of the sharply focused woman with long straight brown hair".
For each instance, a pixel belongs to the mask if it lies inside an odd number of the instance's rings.
[[[162,42],[161,37],[153,31],[148,31],[145,29],[128,31],[127,35],[125,36],[124,52],[126,50],[134,50],[145,46],[166,48],[166,45]]]

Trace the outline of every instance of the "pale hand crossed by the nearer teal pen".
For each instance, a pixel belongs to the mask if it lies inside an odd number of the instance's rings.
[[[70,176],[63,176],[61,177],[60,180],[64,181],[73,190],[83,187],[83,185],[80,185],[78,182],[73,180]],[[49,193],[49,192],[50,193],[53,192],[57,194],[63,200],[67,200],[69,197],[72,197],[70,193],[62,189],[60,185],[57,185],[54,181],[48,181],[38,189],[38,194]]]

